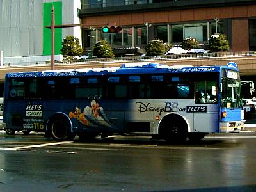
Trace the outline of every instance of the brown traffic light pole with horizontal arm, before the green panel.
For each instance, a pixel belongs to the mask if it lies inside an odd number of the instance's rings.
[[[55,25],[55,17],[54,17],[54,6],[52,6],[52,12],[51,12],[51,26],[45,26],[45,28],[51,29],[51,70],[54,70],[54,61],[55,61],[55,28],[73,28],[77,26],[86,26],[84,24],[65,24],[65,25]]]

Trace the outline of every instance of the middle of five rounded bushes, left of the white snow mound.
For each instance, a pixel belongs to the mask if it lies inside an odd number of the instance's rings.
[[[156,39],[149,42],[149,44],[145,47],[145,51],[147,56],[163,55],[169,45],[170,44],[165,46],[163,40]]]

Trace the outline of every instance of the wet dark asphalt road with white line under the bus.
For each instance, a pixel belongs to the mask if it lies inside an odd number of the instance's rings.
[[[256,191],[256,134],[168,145],[0,135],[0,191]]]

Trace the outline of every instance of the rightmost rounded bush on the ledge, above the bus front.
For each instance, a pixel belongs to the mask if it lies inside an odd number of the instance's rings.
[[[226,35],[216,33],[209,38],[209,49],[213,52],[229,51],[229,44]]]

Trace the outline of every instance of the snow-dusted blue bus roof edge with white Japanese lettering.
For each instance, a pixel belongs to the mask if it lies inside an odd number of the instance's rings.
[[[54,76],[89,76],[89,75],[120,75],[120,74],[160,74],[160,73],[187,73],[187,72],[220,72],[221,68],[238,71],[227,66],[199,66],[192,65],[161,65],[150,62],[124,63],[121,67],[83,68],[68,70],[47,70],[42,72],[8,73],[6,78],[15,77],[54,77]]]

